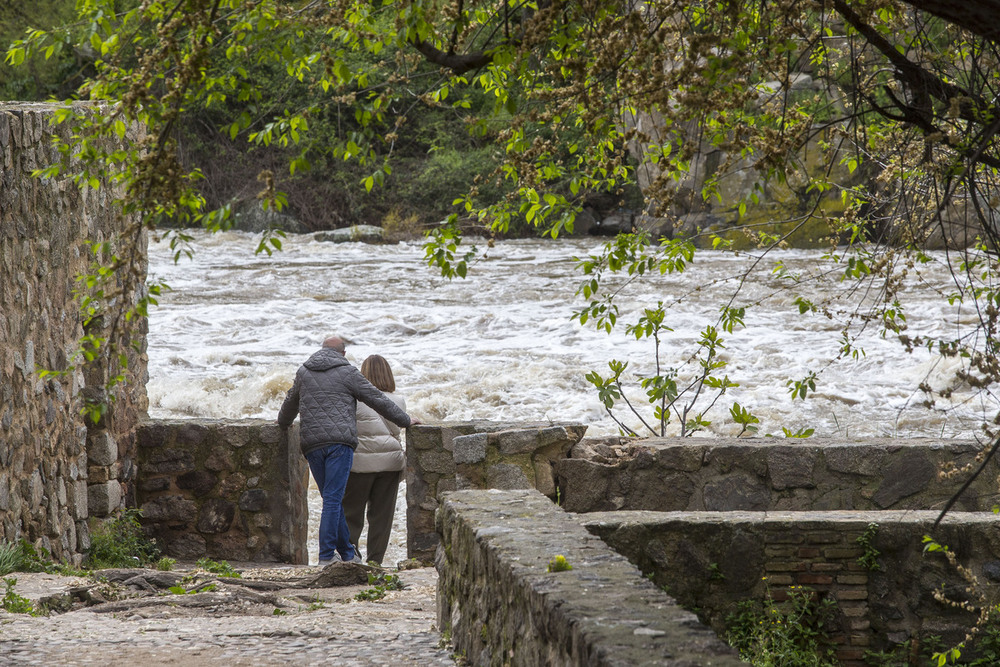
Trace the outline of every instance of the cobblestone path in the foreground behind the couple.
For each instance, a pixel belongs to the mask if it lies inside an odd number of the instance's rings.
[[[15,592],[32,600],[87,583],[10,576],[18,579]],[[171,606],[180,596],[161,595],[164,604],[125,611],[96,605],[32,617],[0,610],[0,665],[455,665],[435,627],[437,573],[398,576],[405,588],[378,601],[354,599],[368,586],[342,586],[282,589],[269,597],[280,607],[218,594],[217,603],[194,607]]]

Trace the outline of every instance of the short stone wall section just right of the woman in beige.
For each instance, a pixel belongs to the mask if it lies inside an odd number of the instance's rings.
[[[434,560],[439,494],[455,489],[538,489],[556,496],[552,465],[579,442],[580,424],[452,422],[406,431],[406,551]]]

